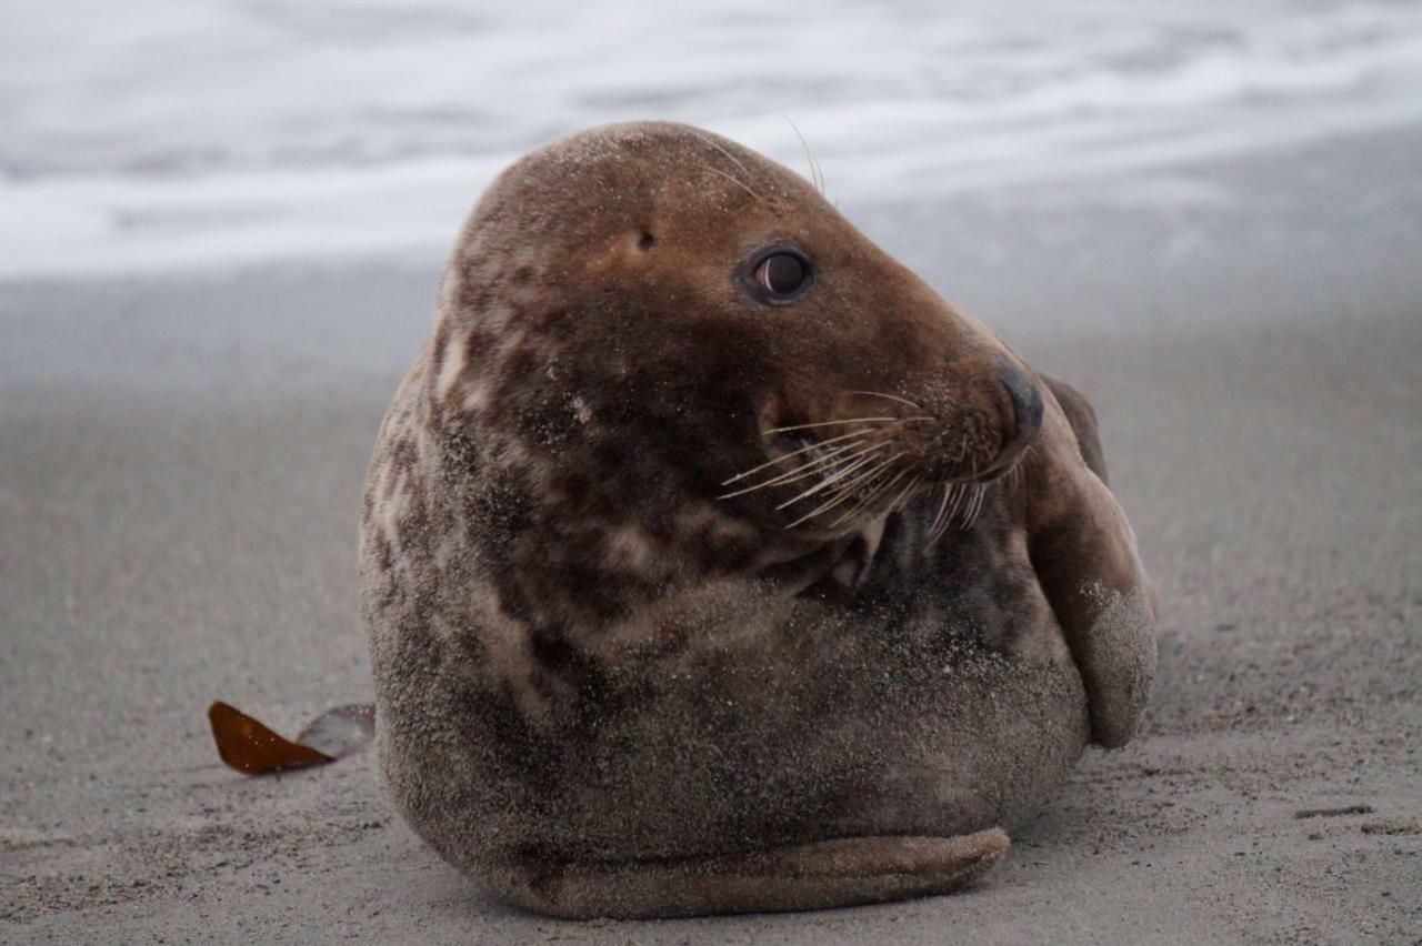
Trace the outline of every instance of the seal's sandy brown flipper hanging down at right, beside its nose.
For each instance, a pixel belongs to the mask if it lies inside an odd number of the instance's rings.
[[[1156,594],[1126,514],[1089,466],[1095,413],[1089,449],[1076,426],[1054,396],[1028,460],[1028,555],[1086,687],[1092,741],[1115,749],[1135,736],[1155,676]]]

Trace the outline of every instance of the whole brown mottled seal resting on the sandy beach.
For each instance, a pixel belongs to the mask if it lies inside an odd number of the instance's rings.
[[[535,152],[367,480],[395,800],[567,916],[953,889],[1139,719],[1102,476],[1079,395],[778,165],[660,124]]]

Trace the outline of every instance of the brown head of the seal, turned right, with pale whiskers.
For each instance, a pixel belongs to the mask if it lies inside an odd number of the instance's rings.
[[[1003,474],[1042,418],[1020,358],[811,183],[673,124],[505,172],[454,251],[432,354],[439,416],[498,462],[603,486],[634,466],[620,503],[720,497],[805,540]]]

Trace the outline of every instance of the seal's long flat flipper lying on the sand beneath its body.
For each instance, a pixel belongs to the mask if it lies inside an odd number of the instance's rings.
[[[998,828],[957,838],[836,838],[717,858],[529,864],[496,878],[495,889],[567,919],[809,910],[948,893],[1007,848]]]

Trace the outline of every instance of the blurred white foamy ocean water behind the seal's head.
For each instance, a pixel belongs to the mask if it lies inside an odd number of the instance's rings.
[[[1059,197],[1422,121],[1422,4],[3,0],[0,278],[428,260],[636,118],[803,135],[842,205]]]

